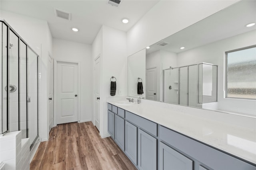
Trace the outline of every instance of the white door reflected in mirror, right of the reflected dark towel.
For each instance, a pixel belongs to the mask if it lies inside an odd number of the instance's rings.
[[[146,70],[146,99],[157,100],[156,93],[156,67]]]

